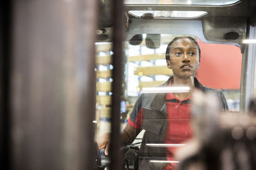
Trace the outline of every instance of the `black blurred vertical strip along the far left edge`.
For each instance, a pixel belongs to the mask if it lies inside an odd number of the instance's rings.
[[[0,169],[9,169],[10,15],[12,1],[0,3]]]

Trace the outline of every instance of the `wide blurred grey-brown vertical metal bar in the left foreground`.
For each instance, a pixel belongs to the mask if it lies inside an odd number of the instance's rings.
[[[97,1],[13,1],[12,169],[92,169]]]

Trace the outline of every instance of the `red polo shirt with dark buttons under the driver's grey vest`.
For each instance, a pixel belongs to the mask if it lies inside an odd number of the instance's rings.
[[[171,86],[171,81],[169,83]],[[187,139],[191,138],[192,130],[191,130],[191,112],[190,112],[190,101],[191,97],[187,97],[182,101],[175,97],[173,93],[166,94],[166,108],[167,108],[167,117],[168,117],[168,125],[166,127],[166,133],[164,136],[164,144],[182,144]],[[143,120],[143,111],[140,108],[138,116],[136,117],[136,122],[132,122],[129,118],[128,123],[136,128],[141,129],[142,120]],[[174,160],[173,154],[177,147],[170,146],[166,148],[166,156],[167,160]],[[177,165],[175,163],[166,164],[165,169],[175,169]]]

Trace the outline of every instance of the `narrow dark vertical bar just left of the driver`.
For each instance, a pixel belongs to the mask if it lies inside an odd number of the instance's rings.
[[[124,74],[123,38],[123,1],[113,1],[113,86],[111,111],[111,169],[120,170],[120,97],[122,96],[122,80]]]

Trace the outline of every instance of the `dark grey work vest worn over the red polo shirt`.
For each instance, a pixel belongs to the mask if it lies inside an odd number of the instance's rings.
[[[166,87],[172,77],[160,87]],[[195,86],[203,92],[212,91],[218,94],[223,110],[228,110],[227,102],[220,90],[214,90],[209,87],[203,87],[195,78]],[[163,169],[165,162],[150,162],[150,160],[167,160],[165,147],[147,146],[149,143],[164,143],[164,135],[167,128],[167,108],[164,93],[159,94],[141,94],[143,122],[142,129],[145,130],[139,152],[139,170],[158,170]]]

